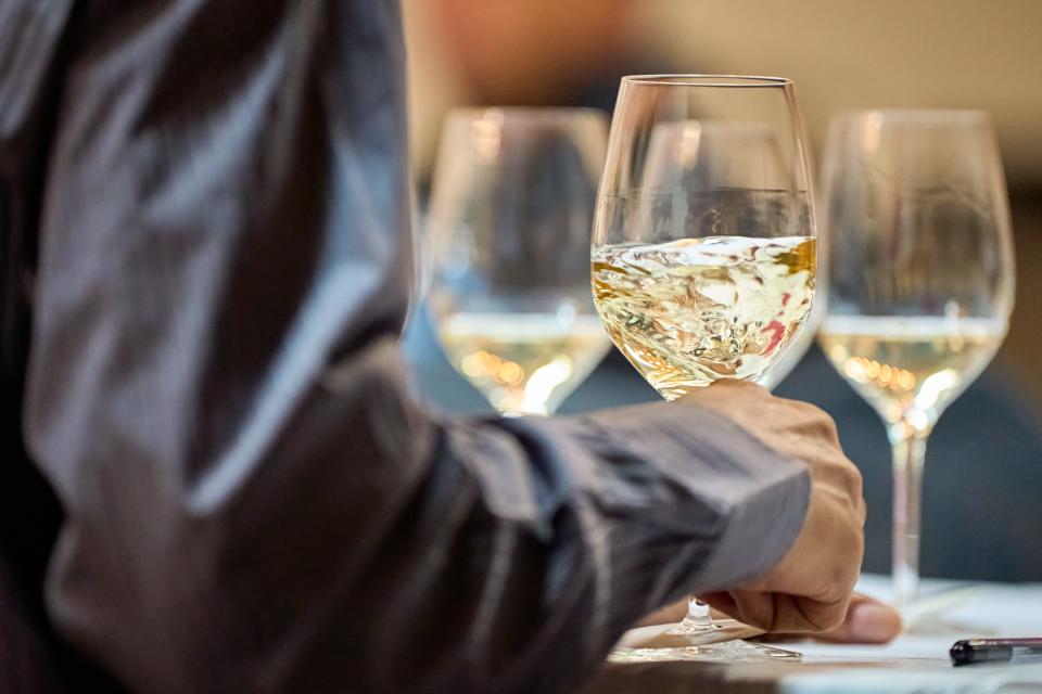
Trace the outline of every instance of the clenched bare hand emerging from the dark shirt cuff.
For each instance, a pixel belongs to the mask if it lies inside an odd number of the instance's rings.
[[[768,632],[841,627],[864,553],[861,474],[843,454],[836,425],[805,402],[721,381],[679,400],[722,414],[775,451],[806,465],[811,496],[799,536],[766,575],[701,595],[712,607]]]

